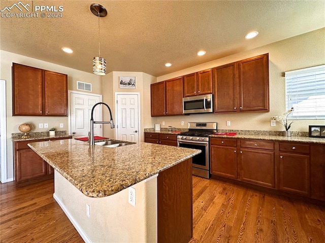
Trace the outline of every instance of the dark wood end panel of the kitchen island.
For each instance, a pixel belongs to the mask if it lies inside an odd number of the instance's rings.
[[[193,236],[191,158],[159,173],[157,197],[158,243],[187,243]]]

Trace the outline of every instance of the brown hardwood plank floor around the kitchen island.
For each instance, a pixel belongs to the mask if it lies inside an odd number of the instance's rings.
[[[0,242],[84,242],[53,199],[53,180],[0,184]],[[325,208],[193,176],[197,242],[325,242]]]

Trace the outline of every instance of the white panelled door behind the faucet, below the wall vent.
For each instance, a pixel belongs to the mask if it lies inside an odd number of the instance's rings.
[[[87,137],[90,131],[90,118],[92,107],[102,101],[100,95],[91,95],[81,92],[71,92],[71,132],[75,137]],[[94,121],[102,121],[103,106],[96,106],[93,112]],[[102,136],[102,124],[94,124],[94,135]]]

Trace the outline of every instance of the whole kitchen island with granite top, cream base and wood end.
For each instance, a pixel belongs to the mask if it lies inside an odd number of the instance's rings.
[[[86,242],[188,242],[191,157],[200,150],[74,139],[30,143],[54,169],[54,198]],[[135,206],[128,188],[136,189]]]

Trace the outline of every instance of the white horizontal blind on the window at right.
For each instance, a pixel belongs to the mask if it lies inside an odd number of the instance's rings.
[[[285,89],[289,120],[325,119],[325,65],[285,72]]]

